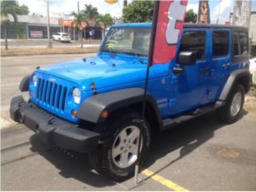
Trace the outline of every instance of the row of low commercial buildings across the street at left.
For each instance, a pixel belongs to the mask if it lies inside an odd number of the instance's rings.
[[[47,17],[40,15],[18,15],[17,23],[13,23],[10,17],[10,25],[7,26],[8,39],[46,39],[47,38]],[[94,22],[89,22],[89,26],[83,29],[84,38],[101,39],[102,29],[95,27]],[[50,35],[57,32],[66,32],[71,39],[78,39],[78,30],[72,25],[60,25],[59,18],[50,17]],[[1,38],[4,38],[4,28],[1,26]]]

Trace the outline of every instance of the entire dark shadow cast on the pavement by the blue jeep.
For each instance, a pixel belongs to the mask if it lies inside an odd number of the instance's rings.
[[[242,114],[244,116],[248,112],[243,110]],[[214,132],[224,125],[217,119],[216,112],[212,112],[153,136],[151,152],[148,154],[147,162],[143,168],[150,167],[157,159],[180,149],[179,157],[164,164],[155,174],[161,172],[164,168],[192,153],[197,147],[214,137]],[[98,188],[116,184],[108,178],[95,173],[89,164],[86,154],[60,150],[57,147],[47,147],[39,141],[36,135],[31,136],[30,142],[32,145],[30,150],[37,152],[51,162],[60,170],[59,174],[64,178],[74,178]],[[152,176],[145,178],[145,180]]]

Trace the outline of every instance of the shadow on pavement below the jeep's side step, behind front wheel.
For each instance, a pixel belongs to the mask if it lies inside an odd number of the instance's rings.
[[[247,114],[248,112],[243,110],[239,120]],[[150,167],[157,159],[180,149],[179,157],[164,164],[153,175],[158,174],[161,170],[189,155],[197,147],[214,137],[214,132],[225,125],[225,123],[217,118],[217,111],[215,111],[159,133],[153,138],[151,152],[148,154],[148,158],[146,158],[148,161],[143,168]],[[151,178],[153,175],[147,177],[145,180]]]

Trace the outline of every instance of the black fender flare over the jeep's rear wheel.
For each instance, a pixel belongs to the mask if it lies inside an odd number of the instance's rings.
[[[219,100],[225,101],[230,91],[232,90],[233,86],[243,78],[243,81],[245,82],[245,93],[247,93],[250,90],[250,72],[248,69],[238,69],[230,73],[227,82],[220,94]]]

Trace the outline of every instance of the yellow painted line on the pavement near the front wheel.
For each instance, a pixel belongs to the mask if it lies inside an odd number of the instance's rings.
[[[168,180],[165,179],[164,177],[155,174],[154,172],[152,172],[151,170],[148,169],[144,169],[142,172],[142,174],[146,175],[147,177],[150,177],[154,180],[156,180],[157,182],[161,183],[162,185],[172,189],[172,190],[176,190],[176,191],[188,191],[187,189],[185,189],[184,187]]]

